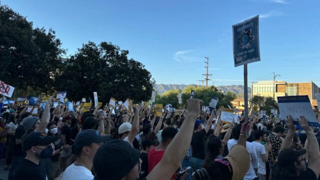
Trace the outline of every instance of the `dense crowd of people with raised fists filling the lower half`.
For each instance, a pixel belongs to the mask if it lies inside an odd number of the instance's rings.
[[[37,114],[3,106],[0,168],[9,180],[319,179],[320,131],[304,116],[225,123],[219,108],[186,104],[161,116],[138,104],[69,111],[52,98]]]

